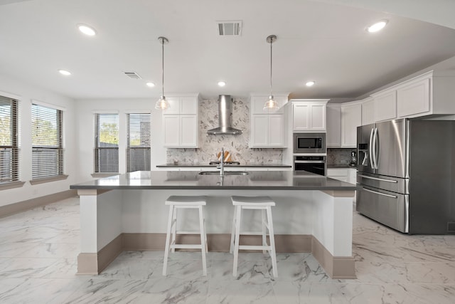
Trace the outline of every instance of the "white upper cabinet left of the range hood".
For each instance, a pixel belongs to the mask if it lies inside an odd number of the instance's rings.
[[[169,96],[163,111],[164,147],[198,147],[199,95]]]

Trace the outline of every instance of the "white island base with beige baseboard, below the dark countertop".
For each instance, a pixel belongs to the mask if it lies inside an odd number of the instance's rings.
[[[229,251],[232,195],[268,195],[272,208],[277,252],[311,252],[331,278],[355,278],[352,256],[353,190],[180,190],[180,189],[78,189],[80,195],[80,254],[77,273],[99,274],[122,251],[164,251],[171,195],[206,195],[205,224],[209,251]],[[198,216],[179,215],[185,230],[198,229]],[[253,214],[242,214],[242,231]],[[258,218],[259,219],[259,218]],[[184,236],[183,241],[198,236]],[[260,242],[247,236],[245,243]]]

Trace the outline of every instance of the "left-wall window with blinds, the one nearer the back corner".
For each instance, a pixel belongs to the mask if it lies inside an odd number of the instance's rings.
[[[31,127],[32,180],[66,178],[63,174],[63,111],[32,103]]]

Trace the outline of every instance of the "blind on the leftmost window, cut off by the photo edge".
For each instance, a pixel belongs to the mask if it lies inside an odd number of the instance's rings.
[[[18,180],[18,100],[0,96],[0,184]]]

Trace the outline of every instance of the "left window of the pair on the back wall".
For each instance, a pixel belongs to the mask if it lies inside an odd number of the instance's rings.
[[[95,173],[119,172],[119,115],[95,114]]]

